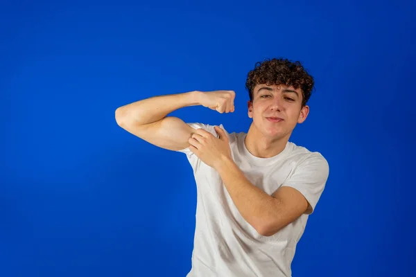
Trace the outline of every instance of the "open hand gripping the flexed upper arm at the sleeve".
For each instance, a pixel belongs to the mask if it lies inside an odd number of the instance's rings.
[[[189,150],[208,166],[216,169],[226,159],[232,159],[232,156],[224,130],[218,126],[214,128],[218,139],[205,129],[196,129],[195,134],[189,138]]]

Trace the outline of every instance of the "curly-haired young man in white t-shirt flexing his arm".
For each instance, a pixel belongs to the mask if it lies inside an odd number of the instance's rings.
[[[116,110],[123,129],[191,163],[198,199],[188,277],[291,276],[296,244],[329,175],[319,152],[288,141],[309,114],[313,85],[299,62],[257,63],[246,80],[247,133],[167,116],[193,105],[232,112],[234,91],[156,96]]]

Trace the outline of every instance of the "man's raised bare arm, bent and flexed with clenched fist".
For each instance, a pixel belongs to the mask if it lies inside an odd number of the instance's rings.
[[[182,107],[202,105],[216,111],[234,111],[234,91],[190,91],[146,98],[116,109],[116,122],[126,131],[167,150],[189,147],[195,129],[180,118],[168,116]]]

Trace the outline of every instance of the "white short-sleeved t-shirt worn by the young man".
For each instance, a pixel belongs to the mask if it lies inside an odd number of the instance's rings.
[[[187,124],[218,137],[213,125]],[[218,172],[189,148],[177,151],[187,154],[197,185],[192,268],[187,277],[291,276],[295,247],[324,190],[328,163],[320,153],[291,142],[275,157],[255,157],[245,148],[244,132],[225,133],[234,162],[254,186],[268,195],[281,186],[296,188],[308,200],[311,211],[274,235],[259,235],[240,215]]]

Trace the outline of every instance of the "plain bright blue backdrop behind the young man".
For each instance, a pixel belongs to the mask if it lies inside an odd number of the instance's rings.
[[[171,115],[246,132],[266,57],[315,77],[291,141],[330,164],[293,276],[415,276],[415,1],[174,2],[1,2],[0,276],[185,276],[191,166],[114,111],[232,89]]]

